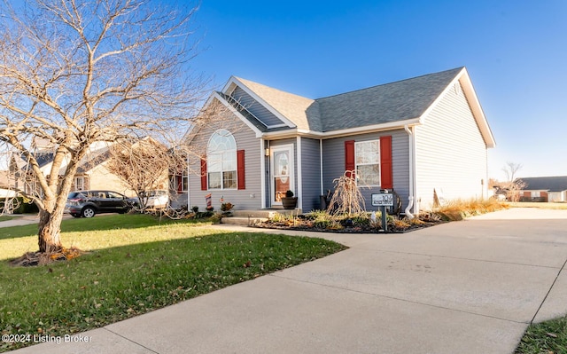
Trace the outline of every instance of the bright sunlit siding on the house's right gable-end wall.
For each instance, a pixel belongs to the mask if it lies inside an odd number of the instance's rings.
[[[486,174],[485,141],[461,87],[452,87],[416,127],[420,208],[431,208],[434,189],[446,201],[485,197]]]

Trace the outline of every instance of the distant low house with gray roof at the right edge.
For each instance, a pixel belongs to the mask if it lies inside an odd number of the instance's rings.
[[[518,178],[525,183],[520,201],[567,201],[567,176]]]

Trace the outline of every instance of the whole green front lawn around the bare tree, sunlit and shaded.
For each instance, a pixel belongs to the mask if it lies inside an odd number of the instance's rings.
[[[82,332],[345,249],[321,239],[117,215],[64,221],[64,245],[89,251],[84,256],[8,265],[9,258],[35,251],[36,229],[0,229],[2,334]],[[6,351],[24,344],[0,345]]]

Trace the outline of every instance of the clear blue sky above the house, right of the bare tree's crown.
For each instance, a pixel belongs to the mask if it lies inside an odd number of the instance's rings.
[[[493,130],[489,176],[567,175],[567,1],[203,0],[192,69],[322,98],[465,66]]]

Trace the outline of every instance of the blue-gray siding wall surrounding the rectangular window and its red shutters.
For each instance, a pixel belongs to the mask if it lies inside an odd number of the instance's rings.
[[[393,190],[400,195],[402,208],[406,208],[409,195],[409,148],[408,134],[405,130],[392,130],[323,140],[322,170],[323,190],[325,193],[330,190],[332,194],[335,189],[333,179],[341,177],[345,173],[345,141],[367,141],[383,136],[392,136]],[[361,189],[367,210],[377,210],[377,207],[372,207],[370,194],[379,192],[379,187]]]

